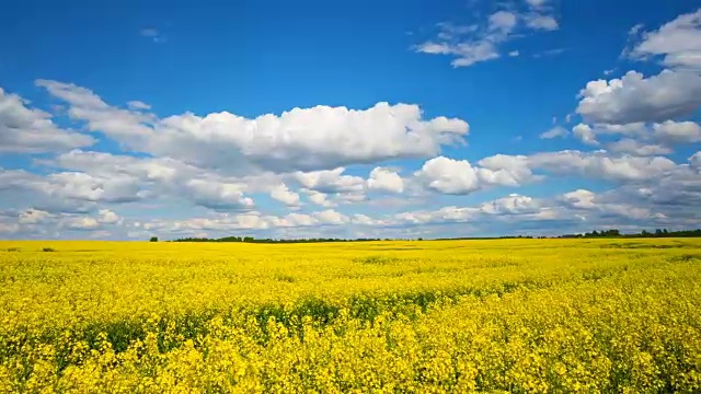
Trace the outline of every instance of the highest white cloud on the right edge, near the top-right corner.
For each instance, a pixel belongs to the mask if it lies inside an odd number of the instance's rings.
[[[701,69],[701,9],[643,33],[642,40],[627,53],[634,59],[662,56],[663,63],[670,68]]]

